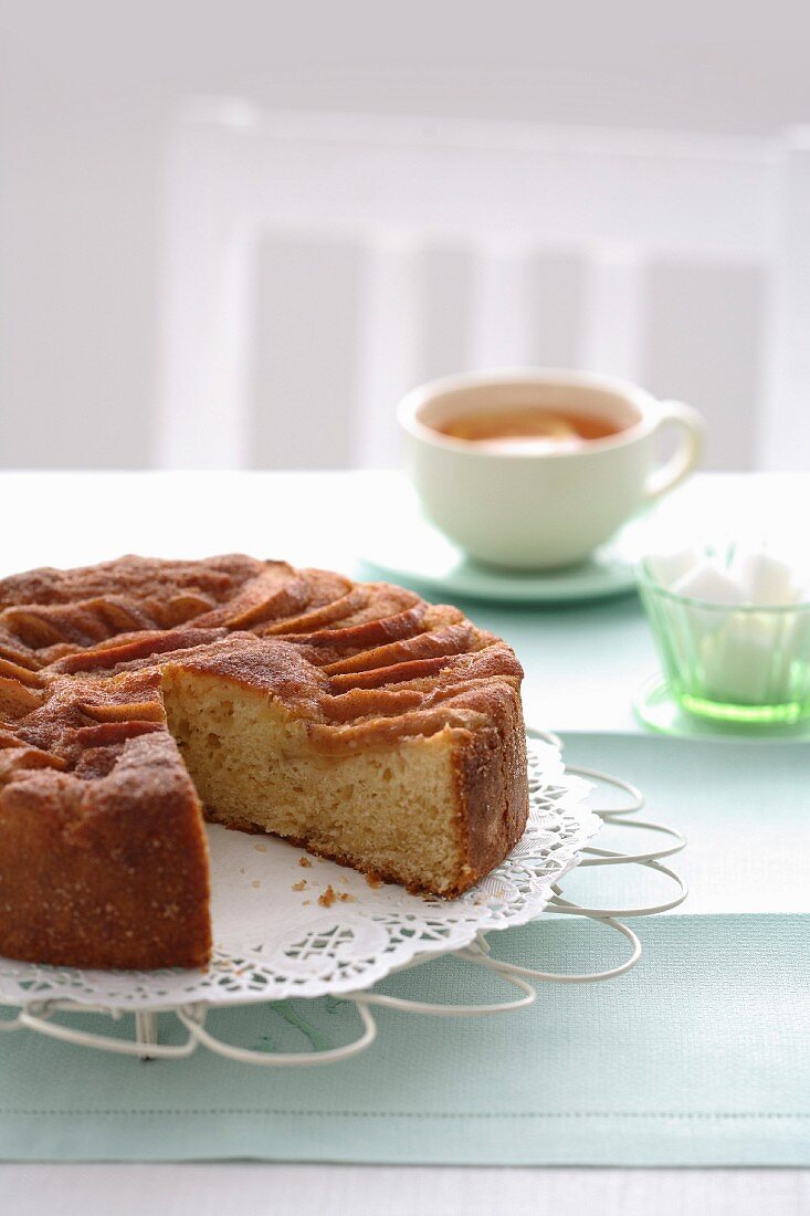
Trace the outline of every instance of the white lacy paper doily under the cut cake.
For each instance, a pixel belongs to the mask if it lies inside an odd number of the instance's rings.
[[[68,1001],[125,1012],[354,992],[417,959],[469,946],[479,934],[525,924],[601,826],[584,806],[590,783],[564,771],[555,747],[528,742],[527,831],[461,899],[373,889],[362,874],[282,840],[212,827],[215,945],[208,968],[102,972],[0,958],[0,1003]],[[336,899],[325,907],[319,897],[328,888]]]

